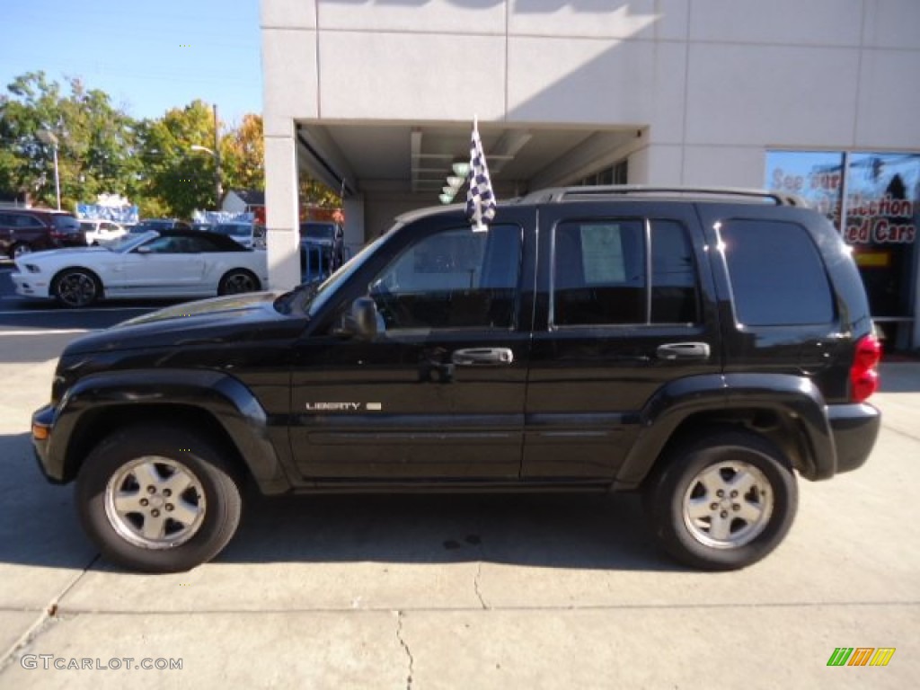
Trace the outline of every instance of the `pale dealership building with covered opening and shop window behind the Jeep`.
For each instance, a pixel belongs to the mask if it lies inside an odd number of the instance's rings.
[[[341,191],[360,247],[441,202],[477,118],[500,200],[801,195],[888,337],[920,347],[918,27],[920,0],[261,0],[272,284],[299,282],[300,173]]]

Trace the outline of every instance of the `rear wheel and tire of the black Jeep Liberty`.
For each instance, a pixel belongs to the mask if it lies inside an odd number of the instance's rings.
[[[676,444],[659,467],[645,492],[646,512],[661,545],[687,565],[744,568],[776,548],[792,526],[796,478],[763,436],[716,430]]]

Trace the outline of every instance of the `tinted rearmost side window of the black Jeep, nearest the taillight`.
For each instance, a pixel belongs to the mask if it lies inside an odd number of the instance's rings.
[[[826,324],[834,299],[808,230],[780,221],[721,224],[735,317],[743,326]]]

